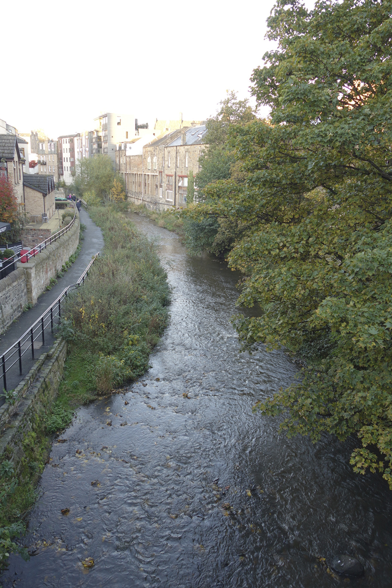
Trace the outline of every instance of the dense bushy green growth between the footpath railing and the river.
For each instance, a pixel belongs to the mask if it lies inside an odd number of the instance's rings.
[[[109,392],[148,369],[170,297],[155,245],[112,206],[91,208],[90,214],[102,228],[105,255],[83,288],[68,297],[60,333],[71,355],[89,354],[85,374],[77,377],[83,389]]]

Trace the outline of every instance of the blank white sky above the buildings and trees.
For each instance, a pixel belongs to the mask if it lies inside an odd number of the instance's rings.
[[[177,119],[179,112],[205,119],[226,89],[249,96],[250,75],[270,48],[264,35],[273,5],[2,2],[0,118],[54,139],[91,129],[102,112],[129,113],[139,123]]]

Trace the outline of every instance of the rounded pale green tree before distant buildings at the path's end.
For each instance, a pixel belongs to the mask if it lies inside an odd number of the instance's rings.
[[[109,198],[113,188],[115,171],[108,155],[95,155],[76,163],[73,189],[82,197],[85,192],[94,192],[100,201]]]

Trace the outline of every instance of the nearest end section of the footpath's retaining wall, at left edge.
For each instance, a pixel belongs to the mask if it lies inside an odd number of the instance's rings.
[[[26,275],[18,268],[0,280],[0,333],[21,316],[27,303]]]

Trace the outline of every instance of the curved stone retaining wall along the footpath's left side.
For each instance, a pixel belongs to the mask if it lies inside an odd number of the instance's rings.
[[[46,230],[46,229],[45,229]],[[75,253],[79,244],[79,216],[72,229],[48,245],[28,263],[17,263],[17,269],[0,280],[0,333],[21,316],[24,306],[35,304],[51,278],[56,278],[62,266]]]

